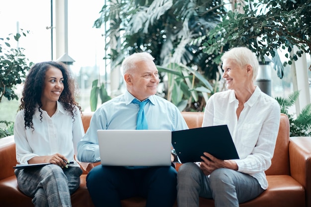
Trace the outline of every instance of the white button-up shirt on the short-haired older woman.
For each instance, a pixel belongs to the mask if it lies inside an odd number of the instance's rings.
[[[238,171],[253,176],[267,189],[264,171],[271,166],[280,125],[280,105],[257,86],[238,119],[237,107],[233,90],[215,93],[206,104],[202,127],[228,125],[240,158],[234,160]]]

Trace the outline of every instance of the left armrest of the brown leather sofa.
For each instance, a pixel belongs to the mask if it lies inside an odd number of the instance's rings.
[[[0,138],[0,180],[14,175],[16,163],[14,136]]]

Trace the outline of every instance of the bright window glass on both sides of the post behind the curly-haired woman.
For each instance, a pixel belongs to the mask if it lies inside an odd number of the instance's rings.
[[[20,38],[18,44],[12,41],[12,46],[24,48],[25,56],[34,63],[49,61],[52,57],[53,60],[57,60],[59,57],[55,55],[55,29],[57,29],[55,2],[55,0],[0,1],[0,37],[7,37],[9,33],[16,33],[19,29],[29,30],[29,35]],[[101,81],[106,80],[103,30],[92,27],[103,5],[104,1],[68,0],[68,53],[75,60],[70,68],[77,77],[80,87],[78,101],[83,111],[90,111],[89,95],[92,81],[98,79],[98,74]],[[51,29],[47,28],[52,25],[52,19],[53,35]],[[22,86],[17,86],[16,93],[19,96],[21,91]],[[0,120],[14,121],[18,105],[17,100],[8,101],[3,98],[0,103]]]

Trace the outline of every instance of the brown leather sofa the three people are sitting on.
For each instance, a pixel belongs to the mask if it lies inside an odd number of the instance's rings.
[[[182,112],[189,128],[201,127],[203,113]],[[84,113],[83,127],[86,131],[92,113]],[[72,195],[73,207],[93,207],[88,194],[85,177],[95,164],[89,164],[81,175],[81,185]],[[17,187],[13,166],[16,165],[13,136],[0,139],[0,206],[33,207],[31,198]],[[178,166],[176,166],[178,169]],[[240,207],[311,207],[311,138],[289,137],[289,120],[281,115],[279,135],[271,167],[266,171],[268,189],[258,198],[240,204]],[[159,198],[160,199],[160,198]],[[122,201],[123,207],[144,207],[143,198]],[[174,205],[177,207],[177,205]],[[214,207],[212,199],[200,198],[200,207]]]

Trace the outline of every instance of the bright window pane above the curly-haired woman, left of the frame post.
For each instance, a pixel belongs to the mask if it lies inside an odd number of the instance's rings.
[[[32,62],[51,60],[51,33],[46,27],[51,25],[50,0],[2,0],[0,1],[0,37],[16,33],[19,29],[29,30],[20,38],[18,47]]]

